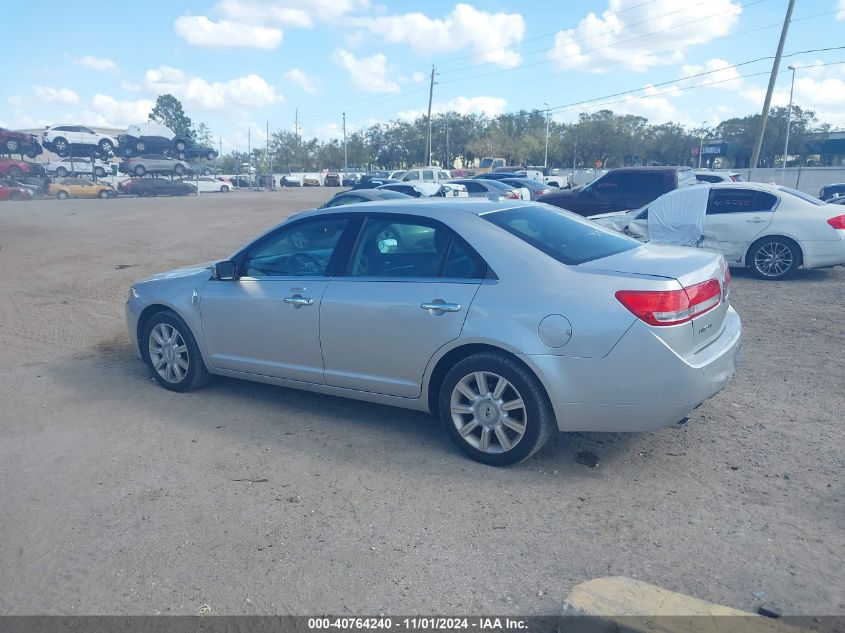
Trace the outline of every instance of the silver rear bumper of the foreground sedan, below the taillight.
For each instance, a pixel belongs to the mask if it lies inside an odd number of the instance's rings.
[[[742,323],[733,308],[722,331],[682,358],[641,322],[604,358],[526,355],[541,377],[561,431],[652,431],[671,426],[733,378]]]

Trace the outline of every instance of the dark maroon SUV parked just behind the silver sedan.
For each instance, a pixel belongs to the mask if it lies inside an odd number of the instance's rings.
[[[690,167],[621,167],[588,185],[548,193],[537,201],[589,217],[639,209],[664,193],[696,182]]]

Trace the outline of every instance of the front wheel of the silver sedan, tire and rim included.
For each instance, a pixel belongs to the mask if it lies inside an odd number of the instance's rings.
[[[190,391],[211,380],[188,324],[175,312],[158,312],[144,324],[141,350],[153,378],[165,389]]]

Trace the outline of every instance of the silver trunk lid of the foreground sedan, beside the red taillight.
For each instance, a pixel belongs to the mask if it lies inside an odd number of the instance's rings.
[[[653,290],[655,280],[669,281],[673,289],[691,288],[715,279],[721,292],[714,308],[678,325],[654,326],[644,322],[642,325],[682,357],[706,347],[722,331],[729,302],[725,284],[727,263],[720,253],[683,246],[644,244],[581,264],[579,268],[618,274],[619,290]],[[620,307],[626,309],[621,303]]]

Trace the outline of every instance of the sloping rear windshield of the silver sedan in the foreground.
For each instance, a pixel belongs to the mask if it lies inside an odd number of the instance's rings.
[[[583,264],[642,246],[595,222],[551,207],[518,207],[481,217],[563,264]]]

